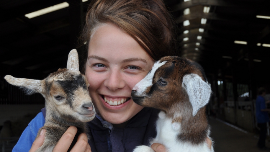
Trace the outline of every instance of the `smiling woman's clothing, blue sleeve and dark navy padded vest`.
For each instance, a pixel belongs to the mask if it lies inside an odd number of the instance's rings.
[[[42,114],[43,112],[43,114]],[[42,110],[28,124],[12,152],[28,152],[34,142],[38,130],[45,123],[45,111]],[[132,152],[136,146],[147,145],[151,138],[156,137],[156,120],[159,110],[143,108],[131,118],[125,128],[113,127],[112,130],[102,126],[101,121],[95,117],[88,122],[88,141],[92,152]]]

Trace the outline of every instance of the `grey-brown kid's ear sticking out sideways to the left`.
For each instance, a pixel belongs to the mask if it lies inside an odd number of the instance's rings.
[[[25,93],[30,95],[34,93],[41,93],[43,95],[43,86],[41,80],[34,79],[24,79],[24,78],[14,78],[11,75],[6,75],[4,77],[6,81],[14,86],[19,86],[24,89]]]

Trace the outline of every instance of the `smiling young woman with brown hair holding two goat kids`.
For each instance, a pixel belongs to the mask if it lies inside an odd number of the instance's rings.
[[[71,151],[131,152],[156,136],[158,110],[131,99],[133,86],[154,61],[174,55],[174,27],[161,0],[92,0],[82,34],[86,42],[85,75],[97,116],[89,122],[91,140],[81,134]],[[120,102],[119,102],[120,101]],[[44,140],[42,113],[28,125],[13,151],[35,151]],[[76,134],[70,127],[54,151],[67,151]],[[35,140],[35,141],[34,141]],[[210,143],[211,147],[211,143]],[[156,151],[166,151],[155,143]]]

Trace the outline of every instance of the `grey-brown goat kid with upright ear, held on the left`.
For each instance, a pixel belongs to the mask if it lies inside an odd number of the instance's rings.
[[[44,128],[46,130],[43,145],[37,152],[53,151],[56,143],[69,126],[76,126],[78,132],[69,148],[77,141],[81,133],[87,133],[87,125],[95,117],[95,109],[89,96],[89,83],[79,71],[78,53],[76,49],[68,55],[67,68],[58,69],[43,80],[14,78],[6,75],[6,81],[23,88],[27,94],[40,93],[45,98],[46,117]]]

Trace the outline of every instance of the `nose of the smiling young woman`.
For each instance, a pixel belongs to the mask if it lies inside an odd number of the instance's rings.
[[[116,69],[110,71],[108,78],[104,82],[104,85],[112,91],[124,88],[125,81],[122,78],[121,72]]]

